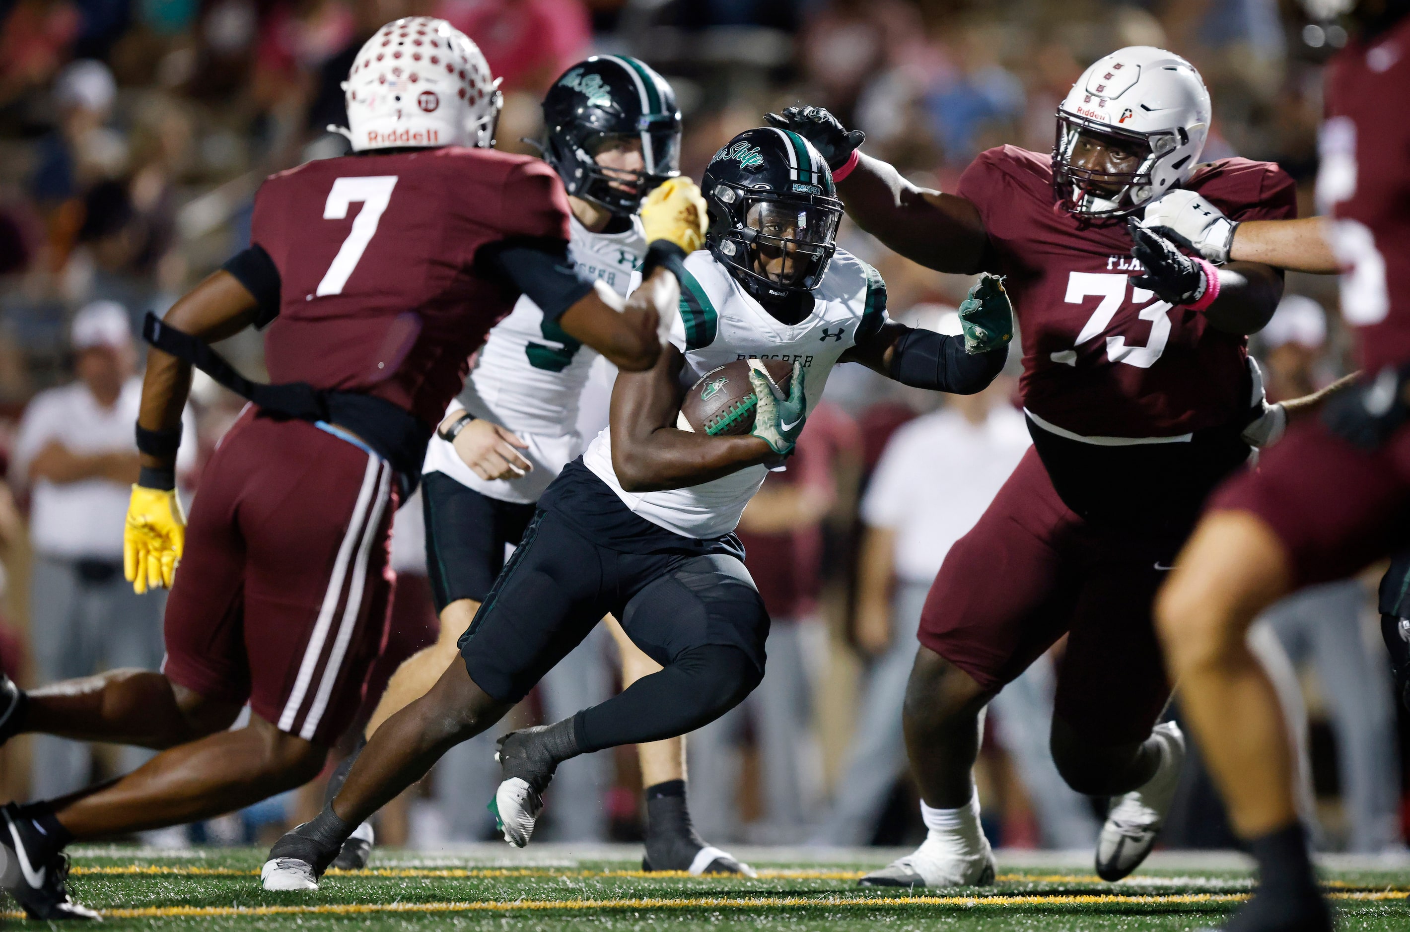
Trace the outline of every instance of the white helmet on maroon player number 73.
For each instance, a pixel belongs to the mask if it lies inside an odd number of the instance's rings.
[[[1115,137],[1142,154],[1134,172],[1073,165],[1081,134]],[[1210,92],[1194,66],[1151,45],[1118,49],[1083,72],[1058,107],[1053,189],[1073,213],[1120,217],[1179,186],[1210,134]]]

